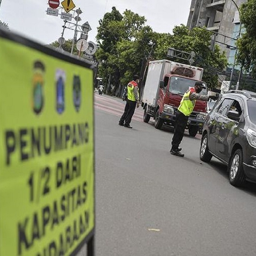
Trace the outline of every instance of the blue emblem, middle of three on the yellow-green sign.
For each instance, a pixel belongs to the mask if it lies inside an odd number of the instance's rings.
[[[63,70],[56,71],[56,110],[59,114],[65,109],[65,81],[66,74]]]

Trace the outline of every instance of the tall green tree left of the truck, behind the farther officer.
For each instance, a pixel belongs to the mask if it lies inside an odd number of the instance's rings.
[[[131,79],[132,74],[140,70],[141,56],[138,56],[137,37],[142,40],[141,30],[144,28],[145,17],[125,10],[123,16],[112,7],[110,13],[106,13],[99,20],[98,34],[96,36],[99,50],[96,58],[99,61],[99,76],[104,84],[111,83],[115,92],[119,84],[125,84]],[[147,29],[145,29],[147,31]]]

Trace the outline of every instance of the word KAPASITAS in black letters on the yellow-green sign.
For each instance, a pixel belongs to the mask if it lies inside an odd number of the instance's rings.
[[[18,255],[24,255],[24,250],[27,251],[33,247],[35,241],[47,237],[49,231],[53,231],[55,227],[60,226],[67,218],[73,216],[75,211],[84,207],[86,200],[87,182],[84,181],[61,195],[58,200],[45,205],[40,211],[19,221],[17,224]]]

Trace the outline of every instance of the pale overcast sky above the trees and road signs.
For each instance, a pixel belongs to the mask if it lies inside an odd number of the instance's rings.
[[[146,25],[151,26],[154,32],[172,33],[174,26],[186,25],[191,0],[73,0],[73,3],[76,5],[74,10],[80,8],[82,11],[79,25],[85,22],[90,24],[91,31],[88,32],[87,41],[96,43],[99,20],[106,12],[111,12],[113,6],[121,14],[128,9],[144,16],[147,20]],[[60,15],[58,17],[47,15],[47,8],[49,8],[48,0],[2,0],[0,20],[8,23],[9,28],[14,32],[41,44],[50,44],[61,37],[64,20]],[[76,21],[72,19],[72,22]],[[73,37],[73,30],[64,30],[66,40]]]

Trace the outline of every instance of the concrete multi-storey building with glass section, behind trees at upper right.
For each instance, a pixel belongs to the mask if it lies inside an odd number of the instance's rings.
[[[227,72],[230,73],[233,68],[240,69],[235,66],[236,39],[242,32],[237,6],[244,2],[246,0],[192,0],[190,6],[187,27],[192,29],[205,26],[208,30],[218,33],[215,44],[226,52],[229,63]]]

